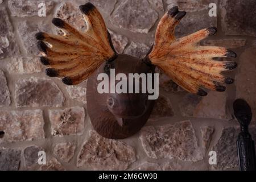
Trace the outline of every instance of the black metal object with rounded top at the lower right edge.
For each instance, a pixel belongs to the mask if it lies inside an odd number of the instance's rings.
[[[237,99],[233,103],[234,115],[241,126],[240,134],[237,138],[237,155],[240,171],[255,171],[256,156],[254,140],[248,130],[251,122],[251,107],[245,100]]]

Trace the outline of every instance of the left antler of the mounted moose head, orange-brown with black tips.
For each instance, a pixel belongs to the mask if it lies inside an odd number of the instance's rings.
[[[63,77],[67,85],[76,85],[88,78],[104,61],[112,60],[116,52],[111,43],[105,22],[92,3],[80,6],[87,30],[80,32],[59,18],[52,23],[64,35],[38,32],[38,48],[42,64],[49,67],[46,75]]]

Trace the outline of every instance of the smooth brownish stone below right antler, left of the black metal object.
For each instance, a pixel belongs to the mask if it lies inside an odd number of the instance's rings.
[[[228,113],[226,106],[226,92],[208,92],[201,102],[193,111],[193,117],[198,118],[216,118],[216,119],[232,119],[232,115]]]

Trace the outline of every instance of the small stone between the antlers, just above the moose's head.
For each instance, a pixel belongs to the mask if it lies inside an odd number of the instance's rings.
[[[131,42],[131,44],[125,49],[127,55],[135,56],[138,58],[143,58],[146,56],[147,52],[150,50],[146,44]]]

